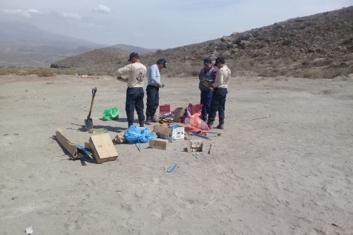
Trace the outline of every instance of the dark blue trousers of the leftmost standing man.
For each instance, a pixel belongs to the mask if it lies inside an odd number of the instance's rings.
[[[145,121],[145,115],[143,114],[143,88],[128,88],[126,90],[126,102],[125,102],[125,111],[128,118],[128,126],[133,124],[133,114],[137,112],[138,121],[143,123]]]

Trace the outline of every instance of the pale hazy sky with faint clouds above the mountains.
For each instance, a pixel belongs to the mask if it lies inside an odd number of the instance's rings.
[[[162,49],[351,5],[353,0],[0,0],[0,20],[100,44]]]

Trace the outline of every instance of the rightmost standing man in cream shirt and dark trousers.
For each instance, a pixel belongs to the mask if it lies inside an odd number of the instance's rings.
[[[228,83],[231,76],[231,71],[225,64],[225,58],[217,57],[214,66],[217,66],[217,76],[215,78],[215,83],[210,83],[213,87],[213,97],[211,103],[211,111],[208,116],[208,126],[213,127],[213,122],[215,121],[216,113],[220,116],[220,123],[216,128],[223,129],[225,124],[225,98],[228,93]]]

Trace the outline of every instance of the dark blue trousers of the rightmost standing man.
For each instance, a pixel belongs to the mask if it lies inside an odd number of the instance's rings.
[[[220,116],[220,124],[225,123],[225,98],[227,97],[227,88],[215,88],[211,103],[211,111],[208,115],[208,121],[215,121],[216,113]]]

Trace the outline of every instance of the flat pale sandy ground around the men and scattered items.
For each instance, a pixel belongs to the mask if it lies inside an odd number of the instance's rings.
[[[164,82],[160,103],[199,101],[196,78]],[[95,86],[93,122],[113,138],[126,83],[0,78],[0,234],[353,234],[352,79],[233,78],[212,154],[116,145],[118,160],[83,166],[52,135],[88,141]],[[108,107],[120,121],[100,120]]]

